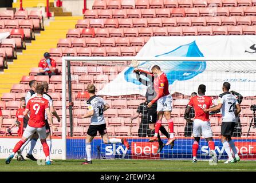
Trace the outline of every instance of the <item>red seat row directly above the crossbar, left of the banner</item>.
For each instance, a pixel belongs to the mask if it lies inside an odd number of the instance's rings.
[[[73,47],[73,48],[52,48],[50,55],[62,57],[70,54],[71,57],[109,57],[109,56],[135,56],[141,46],[119,46],[119,47]]]

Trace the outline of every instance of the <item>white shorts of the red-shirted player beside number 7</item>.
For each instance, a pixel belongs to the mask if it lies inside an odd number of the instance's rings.
[[[210,121],[195,119],[193,122],[193,136],[201,137],[201,134],[204,138],[212,137],[211,123]]]

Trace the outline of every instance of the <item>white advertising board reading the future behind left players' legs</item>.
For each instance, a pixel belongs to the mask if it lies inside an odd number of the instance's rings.
[[[14,146],[20,138],[0,138],[0,158],[7,158],[10,156]],[[22,156],[26,158],[26,154],[29,152],[30,142],[27,144],[25,149],[22,152]],[[45,154],[41,145],[40,140],[37,141],[37,145],[33,150],[33,156],[38,160],[44,160]],[[62,148],[61,148],[61,139],[52,139],[52,151],[50,153],[50,158],[52,159],[61,159],[62,158]]]

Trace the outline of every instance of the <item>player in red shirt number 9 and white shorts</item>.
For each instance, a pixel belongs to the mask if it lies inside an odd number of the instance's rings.
[[[6,159],[5,163],[10,164],[11,160],[14,157],[14,154],[18,152],[21,146],[33,136],[35,132],[38,133],[41,139],[41,143],[44,149],[44,153],[46,156],[46,165],[50,165],[50,157],[49,157],[49,146],[46,143],[46,129],[45,129],[45,113],[48,116],[48,120],[51,121],[52,124],[52,114],[49,109],[49,101],[42,97],[44,94],[44,86],[37,85],[36,87],[37,97],[31,98],[29,102],[27,102],[26,110],[24,112],[24,116],[27,117],[27,114],[30,112],[29,122],[27,124],[27,128],[23,133],[21,140],[15,145],[13,152]],[[56,127],[53,126],[54,129]]]

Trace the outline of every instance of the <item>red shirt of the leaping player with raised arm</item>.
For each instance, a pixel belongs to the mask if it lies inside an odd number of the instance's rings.
[[[152,77],[154,77],[152,73],[149,73],[144,70],[140,70],[140,71],[146,74],[150,74]],[[152,104],[155,103],[157,100],[159,100],[159,98],[168,96],[168,94],[170,94],[169,83],[168,83],[166,73],[163,72],[162,74],[157,75],[157,77],[154,77],[153,83],[154,83],[154,89],[156,92],[156,97],[153,98],[153,100],[151,101]]]

